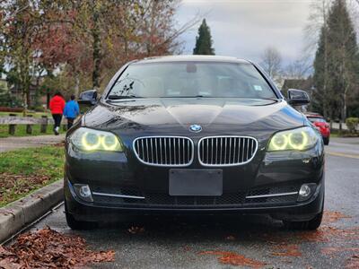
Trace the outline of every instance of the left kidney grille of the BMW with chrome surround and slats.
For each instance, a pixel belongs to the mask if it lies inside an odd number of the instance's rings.
[[[136,141],[137,140],[140,140],[140,139],[145,139],[145,141],[147,141],[147,139],[150,138],[179,138],[179,139],[183,139],[183,142],[185,140],[187,140],[187,146],[191,145],[191,151],[188,152],[188,156],[190,154],[190,159],[188,161],[188,163],[184,163],[184,164],[161,164],[161,163],[152,163],[152,162],[147,162],[147,161],[143,161],[140,156],[138,155],[138,152],[136,151]],[[143,143],[144,140],[141,140],[141,143]],[[151,140],[152,141],[152,140]],[[173,141],[173,144],[176,143],[175,141]],[[164,161],[167,160],[167,143],[166,143],[166,140],[164,140]],[[160,139],[160,146],[162,146],[162,139]],[[170,145],[169,147],[171,147],[171,142],[170,142]],[[184,143],[183,143],[183,149],[185,148],[184,146]],[[136,137],[136,139],[133,141],[132,143],[132,150],[135,152],[135,155],[136,155],[136,158],[138,161],[144,163],[145,165],[149,165],[149,166],[157,166],[157,167],[187,167],[189,165],[192,164],[194,158],[195,158],[195,144],[193,143],[192,139],[190,139],[189,137],[187,136],[175,136],[175,135],[153,135],[153,136],[140,136],[140,137]],[[174,152],[176,153],[176,152]],[[148,150],[147,150],[147,154],[148,154]],[[176,160],[176,157],[179,157],[180,156],[180,152],[178,154],[178,156],[176,156],[176,154],[174,155],[174,159]],[[185,159],[185,156],[186,154],[184,153],[183,151],[183,160]],[[172,158],[171,158],[171,154],[169,156],[170,158],[170,162],[172,161]],[[147,160],[149,160],[147,158]],[[157,159],[158,160],[158,159]],[[162,151],[161,151],[161,162],[162,161]]]

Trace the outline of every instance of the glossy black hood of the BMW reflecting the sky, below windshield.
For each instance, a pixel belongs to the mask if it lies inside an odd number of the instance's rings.
[[[285,100],[162,98],[100,102],[83,117],[83,126],[186,134],[197,124],[204,132],[245,133],[303,126],[303,116]]]

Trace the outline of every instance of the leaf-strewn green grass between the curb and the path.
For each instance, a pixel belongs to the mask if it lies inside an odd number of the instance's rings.
[[[64,148],[45,146],[0,153],[0,207],[63,177]]]

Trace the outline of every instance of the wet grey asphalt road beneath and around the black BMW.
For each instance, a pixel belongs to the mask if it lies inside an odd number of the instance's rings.
[[[95,268],[228,268],[224,251],[264,268],[359,268],[359,139],[333,138],[326,151],[326,215],[318,231],[285,230],[265,216],[137,218],[72,231],[63,207],[32,230],[48,225],[82,236],[92,249],[116,251],[114,263]],[[133,234],[131,226],[144,230]]]

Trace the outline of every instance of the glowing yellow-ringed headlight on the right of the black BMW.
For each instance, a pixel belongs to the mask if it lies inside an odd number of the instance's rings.
[[[311,127],[279,132],[270,140],[268,152],[307,150],[317,143],[318,136]]]

